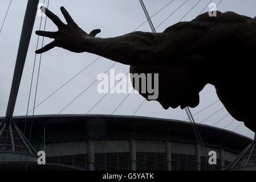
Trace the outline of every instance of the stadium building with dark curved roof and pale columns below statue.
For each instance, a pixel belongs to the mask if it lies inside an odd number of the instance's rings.
[[[18,152],[7,152],[11,144],[3,135],[0,163],[7,170],[21,169],[21,164],[26,164],[27,170],[224,170],[252,142],[242,135],[198,124],[206,151],[217,153],[217,164],[209,168],[205,148],[197,143],[189,122],[114,115],[13,119],[21,130],[26,123],[26,138],[33,121],[31,144],[36,151],[46,152],[46,165],[39,166],[37,156],[22,156],[21,143],[15,146]]]

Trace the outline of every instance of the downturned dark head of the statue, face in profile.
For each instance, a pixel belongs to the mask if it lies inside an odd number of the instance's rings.
[[[153,76],[151,77],[152,88],[156,92],[156,87],[158,86],[156,101],[159,101],[164,109],[179,106],[181,109],[184,109],[186,106],[196,107],[200,102],[199,93],[207,84],[197,64],[135,66],[131,67],[131,73],[138,73],[139,75],[141,73],[159,73],[158,84],[156,83],[156,77],[155,80]],[[148,79],[147,77],[147,83],[150,81]],[[147,100],[151,100],[149,96],[152,96],[152,93],[142,92],[142,82],[140,81],[140,87],[136,88],[135,80],[133,79],[132,81],[133,88]]]

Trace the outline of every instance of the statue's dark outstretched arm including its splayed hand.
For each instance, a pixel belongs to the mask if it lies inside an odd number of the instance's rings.
[[[59,30],[57,32],[36,31],[37,35],[55,39],[37,50],[36,53],[43,53],[54,47],[62,47],[72,52],[95,53],[119,63],[136,65],[145,63],[145,61],[153,63],[160,51],[160,44],[165,40],[164,34],[149,32],[132,32],[115,38],[95,38],[100,30],[93,30],[87,34],[74,22],[64,7],[61,7],[60,10],[67,24],[64,24],[58,16],[45,7],[41,7],[41,10],[56,24]]]

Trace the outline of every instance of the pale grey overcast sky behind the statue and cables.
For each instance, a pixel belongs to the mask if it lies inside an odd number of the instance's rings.
[[[149,15],[153,15],[170,1],[171,0],[144,0],[144,3],[148,9]],[[182,5],[182,3],[185,1],[186,0],[174,0],[169,6],[154,16],[152,18],[152,22],[155,27],[160,24],[162,20],[172,14],[173,11],[175,11],[177,7]],[[162,23],[159,28],[157,28],[157,32],[162,32],[168,26],[177,23],[178,20],[180,20],[194,5],[196,5],[198,1],[200,0],[189,0],[186,2],[180,10],[166,19],[166,21]],[[204,9],[206,4],[209,3],[209,1],[210,0],[201,0],[198,5],[185,16],[183,20],[192,20],[195,18],[202,11],[202,9]],[[9,2],[10,0],[0,1],[1,24],[3,22]],[[47,2],[48,0],[46,0],[46,5]],[[212,2],[218,4],[220,0],[213,0]],[[27,1],[25,0],[13,0],[6,18],[6,22],[3,26],[3,30],[0,33],[0,116],[4,116],[6,112],[26,4]],[[78,23],[78,25],[83,28],[84,31],[90,32],[95,28],[100,28],[101,33],[98,36],[101,38],[127,34],[145,21],[145,15],[141,9],[139,0],[50,0],[49,9],[64,20],[59,10],[60,6],[66,7],[76,23]],[[238,14],[254,17],[256,16],[255,7],[256,1],[254,0],[223,0],[220,3],[218,10],[235,11],[235,13]],[[205,9],[204,12],[207,10],[208,9]],[[35,56],[34,51],[36,49],[37,42],[37,36],[34,34],[34,32],[35,30],[39,30],[39,23],[40,17],[36,16],[34,31],[30,42],[29,52],[27,54],[14,115],[26,114],[32,66]],[[43,29],[43,27],[41,29]],[[49,19],[47,19],[46,30],[57,30],[56,26]],[[145,23],[138,30],[151,31],[148,23]],[[44,44],[49,43],[50,41],[50,39],[44,39]],[[39,45],[41,44],[42,38],[39,39]],[[35,65],[36,70],[38,70],[39,63],[39,56],[37,57],[38,59],[36,60]],[[97,59],[97,57],[97,55],[92,55],[90,53],[72,53],[61,48],[54,48],[51,51],[43,53],[36,103],[38,104],[40,101],[44,100],[44,98],[49,96],[52,92],[58,89],[59,86],[64,84],[83,68],[87,67],[87,65],[92,63],[92,61]],[[59,111],[74,100],[79,93],[86,89],[88,85],[92,84],[92,82],[96,80],[99,73],[104,73],[114,63],[115,62],[104,58],[95,61],[94,64],[90,65],[90,67],[88,67],[78,77],[76,77],[69,84],[60,89],[59,92],[54,94],[46,102],[36,108],[35,114],[58,114]],[[119,63],[117,63],[113,68],[115,68],[117,73],[127,73],[129,69],[127,65],[122,65]],[[35,72],[35,76],[37,76],[37,71]],[[30,109],[32,109],[34,104],[35,86],[35,82],[33,82]],[[86,114],[91,107],[104,96],[103,94],[97,93],[96,86],[97,84],[92,85],[87,92],[84,92],[82,96],[78,98],[78,100],[68,106],[62,112],[62,114]],[[111,114],[126,96],[127,94],[108,94],[108,96],[105,97],[90,112],[90,114]],[[218,98],[214,86],[207,85],[200,93],[200,105],[192,109],[192,114],[197,113],[204,107],[217,100]],[[131,94],[114,114],[133,115],[143,101],[144,98],[139,94]],[[197,114],[194,119],[196,122],[201,122],[222,107],[223,105],[221,102],[217,102],[212,107],[209,107],[209,109]],[[164,110],[156,101],[144,102],[135,115],[180,120],[185,120],[187,118],[184,110]],[[224,118],[225,115],[227,115],[227,111],[226,109],[222,109],[217,114],[214,114],[212,117],[206,119],[203,123],[206,125],[214,125],[214,123],[219,121],[221,118]],[[225,119],[218,123],[216,127],[224,128],[232,120],[233,118],[228,115]],[[241,122],[237,121],[232,122],[226,129],[233,131],[239,126],[240,123]],[[247,129],[244,125],[238,127],[235,132],[251,138],[254,136],[253,132]]]

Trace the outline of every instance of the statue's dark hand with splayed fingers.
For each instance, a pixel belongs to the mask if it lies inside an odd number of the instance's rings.
[[[83,47],[86,40],[88,38],[94,38],[100,32],[99,29],[96,29],[91,31],[91,33],[88,35],[85,31],[78,27],[64,7],[60,7],[60,10],[64,15],[67,24],[64,24],[58,16],[56,16],[46,7],[41,7],[40,9],[46,14],[46,16],[48,16],[48,18],[52,20],[52,22],[56,24],[59,30],[56,32],[36,31],[36,35],[46,36],[47,38],[55,40],[43,48],[38,49],[35,51],[35,53],[43,53],[54,47],[62,47],[72,52],[84,52]]]

